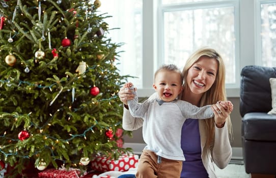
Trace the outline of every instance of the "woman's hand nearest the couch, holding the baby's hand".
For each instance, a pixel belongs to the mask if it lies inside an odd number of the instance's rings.
[[[223,128],[227,117],[233,111],[233,104],[231,101],[218,101],[211,106],[214,112],[215,125],[218,128]]]

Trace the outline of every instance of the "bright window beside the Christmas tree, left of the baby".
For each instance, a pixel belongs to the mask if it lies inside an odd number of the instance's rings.
[[[142,0],[101,0],[98,13],[107,13],[106,18],[110,37],[115,43],[123,45],[117,49],[119,62],[117,68],[121,75],[129,78],[139,88],[143,87],[142,61]]]

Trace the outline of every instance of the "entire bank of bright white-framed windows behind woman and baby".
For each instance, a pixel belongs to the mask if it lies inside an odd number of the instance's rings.
[[[152,94],[154,71],[164,63],[182,68],[200,46],[211,46],[226,64],[228,97],[239,97],[240,71],[247,65],[276,67],[276,0],[101,0],[111,14],[112,40],[125,43],[118,68]]]

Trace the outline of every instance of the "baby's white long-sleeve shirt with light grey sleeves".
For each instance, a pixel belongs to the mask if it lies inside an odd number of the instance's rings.
[[[204,119],[214,116],[210,105],[197,107],[182,100],[159,105],[156,99],[138,103],[135,97],[128,101],[128,107],[133,117],[144,119],[145,149],[163,158],[179,161],[185,160],[181,149],[181,129],[186,118]]]

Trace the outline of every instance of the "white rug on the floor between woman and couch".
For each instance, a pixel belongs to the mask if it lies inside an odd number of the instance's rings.
[[[215,172],[219,178],[250,178],[250,174],[247,174],[244,169],[244,165],[229,164],[224,169],[215,167]]]

